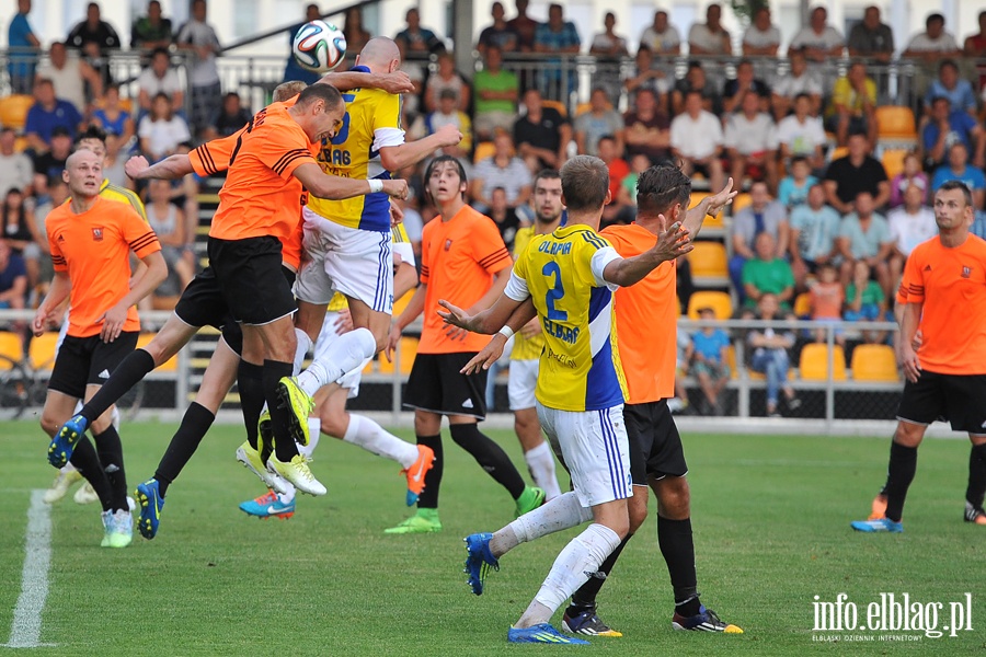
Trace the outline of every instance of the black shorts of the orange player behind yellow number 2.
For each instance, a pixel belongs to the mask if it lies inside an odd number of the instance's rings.
[[[626,404],[623,423],[630,441],[630,479],[646,486],[649,477],[685,476],[685,448],[667,400]]]

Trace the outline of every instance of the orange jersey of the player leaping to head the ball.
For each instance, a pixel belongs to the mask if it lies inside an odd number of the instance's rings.
[[[301,164],[318,164],[314,153],[319,145],[308,140],[287,108],[285,103],[268,105],[236,134],[233,148],[226,158],[229,174],[219,191],[219,209],[213,217],[209,237],[244,240],[273,235],[288,245],[284,251],[285,262],[297,268],[300,243],[297,252],[294,244],[299,240],[301,206],[308,193],[293,173]],[[198,152],[199,163],[211,157],[209,166],[219,165],[221,149],[229,143],[225,139],[217,141],[221,143],[215,152],[208,149]]]

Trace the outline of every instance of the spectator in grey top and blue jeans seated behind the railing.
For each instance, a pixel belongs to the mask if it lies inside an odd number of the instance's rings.
[[[783,392],[789,410],[796,411],[801,406],[801,400],[795,396],[794,389],[788,382],[788,370],[791,368],[788,349],[794,346],[794,333],[773,324],[787,315],[788,312],[781,310],[777,296],[761,296],[757,301],[755,316],[770,324],[764,328],[755,328],[746,336],[750,369],[767,377],[768,417],[780,417],[780,392]]]

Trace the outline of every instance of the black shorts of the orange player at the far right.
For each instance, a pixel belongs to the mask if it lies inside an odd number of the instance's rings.
[[[953,431],[986,435],[986,374],[939,374],[921,371],[917,383],[904,383],[897,419],[929,425],[943,418]]]

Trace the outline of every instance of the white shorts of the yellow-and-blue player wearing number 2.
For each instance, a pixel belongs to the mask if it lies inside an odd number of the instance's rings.
[[[538,402],[538,419],[552,443],[561,447],[582,506],[633,494],[622,404],[600,411],[559,411]]]

